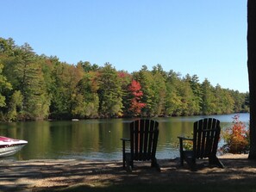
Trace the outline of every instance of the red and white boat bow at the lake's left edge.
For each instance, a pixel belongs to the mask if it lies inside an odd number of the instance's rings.
[[[0,158],[19,152],[26,144],[28,144],[27,140],[12,139],[0,136]]]

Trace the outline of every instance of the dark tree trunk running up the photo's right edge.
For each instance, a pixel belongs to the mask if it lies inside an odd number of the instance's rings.
[[[256,159],[256,1],[247,1],[247,67],[250,91],[250,152]]]

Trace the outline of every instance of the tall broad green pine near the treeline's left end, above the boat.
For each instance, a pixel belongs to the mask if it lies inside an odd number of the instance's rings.
[[[15,59],[6,66],[14,91],[22,94],[22,107],[18,111],[18,119],[45,119],[48,115],[49,100],[41,65],[33,49],[27,43],[16,49]],[[15,94],[15,93],[14,93]],[[14,96],[14,95],[13,95]],[[11,106],[10,106],[11,108]]]

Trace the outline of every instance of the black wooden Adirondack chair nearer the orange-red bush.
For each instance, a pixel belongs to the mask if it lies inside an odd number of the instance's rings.
[[[222,162],[216,157],[218,142],[220,139],[220,121],[214,118],[205,118],[194,122],[193,139],[178,137],[180,164],[184,165],[184,160],[189,164],[191,170],[197,170],[196,159],[209,158],[209,164],[224,168]],[[193,143],[193,149],[184,150],[184,139],[189,139]]]

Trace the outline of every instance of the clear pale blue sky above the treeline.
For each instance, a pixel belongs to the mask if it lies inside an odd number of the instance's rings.
[[[247,1],[2,0],[0,36],[38,54],[116,70],[196,74],[248,91]]]

